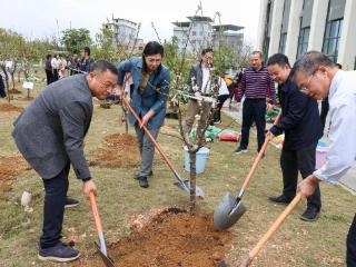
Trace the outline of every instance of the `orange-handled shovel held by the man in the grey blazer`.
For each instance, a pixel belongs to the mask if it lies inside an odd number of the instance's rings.
[[[98,230],[98,235],[99,235],[99,241],[100,241],[100,246],[97,243],[95,243],[95,246],[96,246],[105,266],[115,267],[112,259],[109,258],[109,256],[108,256],[107,245],[106,245],[105,238],[103,238],[102,225],[101,225],[101,220],[100,220],[100,216],[99,216],[99,211],[98,211],[98,206],[97,206],[97,201],[96,201],[96,197],[93,195],[93,191],[89,192],[89,199],[90,199],[90,206],[91,206],[93,219],[96,221],[96,226],[97,226],[97,230]]]

